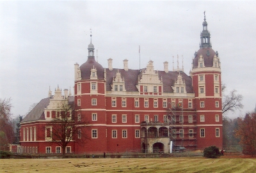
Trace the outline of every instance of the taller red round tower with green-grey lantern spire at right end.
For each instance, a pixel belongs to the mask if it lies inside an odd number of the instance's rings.
[[[222,148],[220,57],[212,49],[205,15],[200,38],[200,49],[194,54],[191,71],[195,92],[197,147]]]

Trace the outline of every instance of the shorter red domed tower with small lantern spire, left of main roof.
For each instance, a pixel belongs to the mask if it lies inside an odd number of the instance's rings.
[[[90,124],[81,129],[79,137],[84,144],[77,145],[77,153],[85,151],[106,151],[106,79],[104,68],[95,61],[94,45],[88,45],[88,58],[80,68],[75,64],[74,96],[77,120]],[[100,143],[99,143],[100,141]]]

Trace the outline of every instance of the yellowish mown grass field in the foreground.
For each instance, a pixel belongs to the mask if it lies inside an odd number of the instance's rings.
[[[0,160],[0,172],[256,172],[255,158],[73,158]]]

